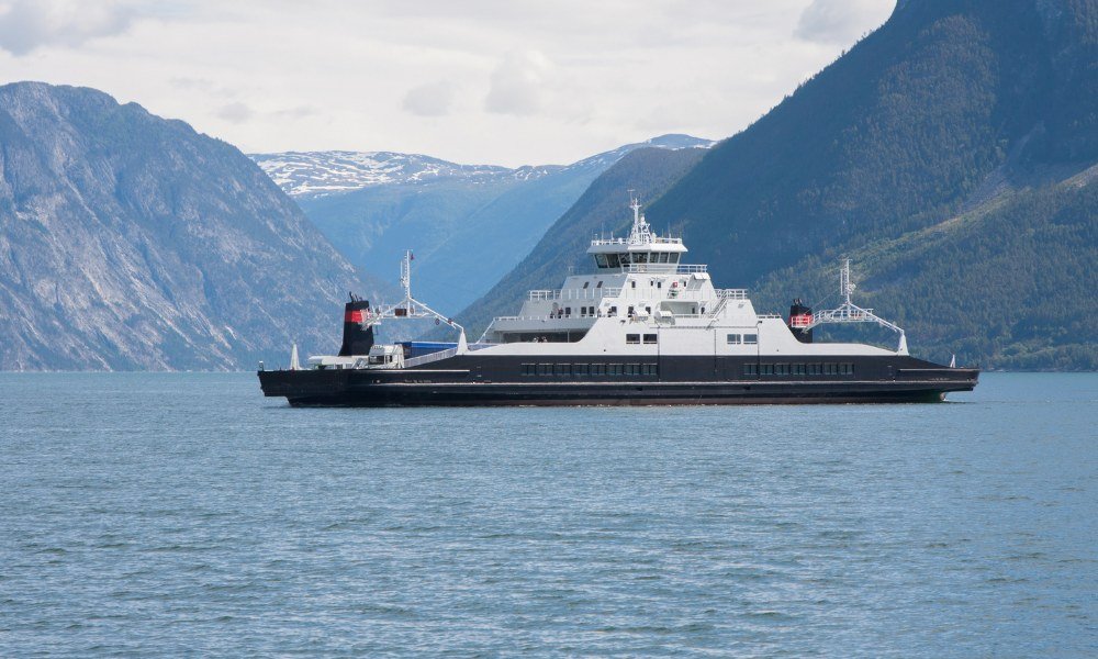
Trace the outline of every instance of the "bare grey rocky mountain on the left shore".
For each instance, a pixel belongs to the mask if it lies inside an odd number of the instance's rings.
[[[244,154],[86,88],[0,87],[0,369],[238,369],[374,294]]]

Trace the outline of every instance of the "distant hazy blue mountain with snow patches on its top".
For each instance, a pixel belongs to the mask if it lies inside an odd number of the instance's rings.
[[[404,250],[413,249],[414,292],[453,313],[513,268],[549,224],[626,154],[709,145],[688,135],[663,135],[568,166],[515,169],[391,153],[253,158],[360,270],[394,279]]]

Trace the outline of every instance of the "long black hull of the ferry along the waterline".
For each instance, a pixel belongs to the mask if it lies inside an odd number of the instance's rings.
[[[677,358],[660,365],[669,373],[663,378],[516,377],[529,359],[463,356],[388,371],[260,371],[259,381],[266,395],[294,406],[732,405],[940,402],[949,392],[972,391],[979,373],[911,357],[863,357],[843,377],[720,379],[742,372],[744,361]]]

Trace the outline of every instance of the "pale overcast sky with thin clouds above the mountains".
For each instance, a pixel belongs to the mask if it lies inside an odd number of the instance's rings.
[[[895,0],[0,0],[0,76],[245,152],[570,163],[742,130]]]

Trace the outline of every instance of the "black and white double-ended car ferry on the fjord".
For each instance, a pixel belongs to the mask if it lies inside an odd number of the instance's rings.
[[[705,265],[683,261],[682,237],[654,233],[634,199],[628,236],[596,236],[591,270],[559,289],[529,291],[517,315],[496,317],[475,343],[412,295],[371,309],[351,294],[337,355],[258,371],[262,392],[293,406],[706,405],[937,402],[972,391],[979,371],[912,357],[898,325],[851,301],[850,261],[836,308],[795,300],[789,316],[757,313],[743,289],[715,288]],[[435,319],[456,343],[374,340],[374,328]],[[831,323],[871,323],[896,349],[814,340]]]

